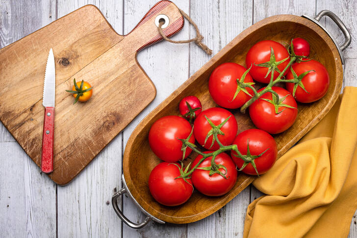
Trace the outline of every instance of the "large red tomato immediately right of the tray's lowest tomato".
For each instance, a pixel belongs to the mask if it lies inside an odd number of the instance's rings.
[[[204,153],[211,153],[212,151],[205,151]],[[198,155],[196,159],[192,163],[192,167],[194,167],[203,156]],[[210,167],[211,166],[212,157],[207,157],[204,161],[198,166],[198,168],[202,167]],[[219,168],[219,171],[225,174],[225,179],[222,175],[214,173],[212,176],[209,176],[209,171],[202,169],[195,169],[192,173],[192,183],[201,193],[207,196],[222,196],[232,189],[237,180],[237,169],[235,163],[230,159],[229,155],[226,153],[221,153],[216,156],[214,159],[215,163],[221,164],[226,167],[227,173],[223,168]]]

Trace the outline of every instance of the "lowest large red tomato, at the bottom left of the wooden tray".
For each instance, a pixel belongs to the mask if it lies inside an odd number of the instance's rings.
[[[177,166],[181,167],[178,163]],[[161,162],[150,173],[149,190],[153,198],[165,206],[178,206],[192,195],[191,179],[186,183],[180,176],[178,167],[173,163]]]

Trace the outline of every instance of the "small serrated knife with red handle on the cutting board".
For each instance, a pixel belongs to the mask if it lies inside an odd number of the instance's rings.
[[[52,48],[47,58],[42,105],[45,107],[45,119],[42,135],[41,171],[53,171],[53,129],[54,129],[54,56]]]

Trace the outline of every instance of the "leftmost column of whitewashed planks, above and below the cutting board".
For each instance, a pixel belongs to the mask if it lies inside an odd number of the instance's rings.
[[[51,23],[55,0],[0,0],[0,48]],[[3,84],[1,84],[3,87]],[[56,189],[0,125],[0,237],[55,237]]]

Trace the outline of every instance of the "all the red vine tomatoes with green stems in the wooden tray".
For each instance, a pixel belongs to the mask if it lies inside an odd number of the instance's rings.
[[[221,107],[202,110],[200,100],[188,96],[179,103],[181,116],[155,121],[149,144],[163,162],[149,176],[153,198],[163,205],[177,206],[190,198],[194,187],[207,196],[222,196],[235,185],[237,171],[258,176],[267,172],[278,154],[271,134],[294,124],[296,101],[317,101],[329,88],[326,68],[308,59],[309,54],[310,46],[302,38],[293,39],[287,48],[275,41],[260,41],[246,55],[248,69],[223,63],[211,73],[209,93]],[[265,86],[256,89],[255,81]],[[284,84],[286,89],[281,87]],[[240,107],[242,113],[249,109],[257,129],[237,135],[234,115],[222,107]],[[201,152],[195,142],[206,151]],[[182,160],[192,151],[198,156],[183,166]]]

